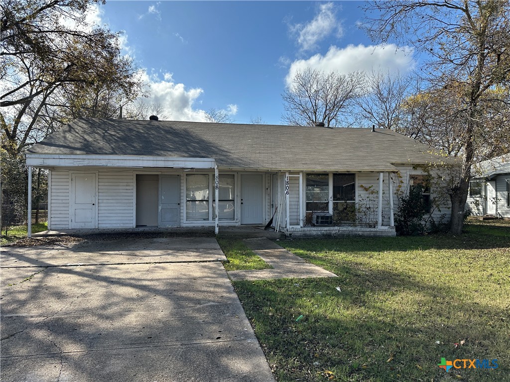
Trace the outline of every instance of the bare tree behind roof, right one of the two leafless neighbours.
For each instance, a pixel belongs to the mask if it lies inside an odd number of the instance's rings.
[[[355,103],[366,125],[398,130],[404,120],[402,104],[417,89],[409,75],[373,70],[365,75],[364,94]]]

